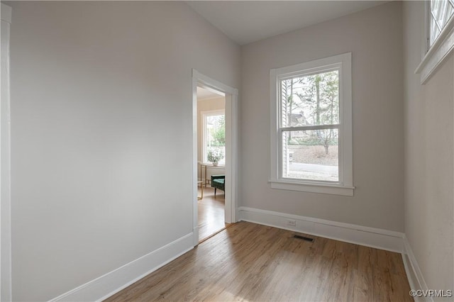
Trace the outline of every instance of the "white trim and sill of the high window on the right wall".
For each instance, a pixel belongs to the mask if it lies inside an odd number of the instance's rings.
[[[428,13],[430,13],[430,1],[426,4],[426,41],[430,41],[430,27],[431,20]],[[427,45],[430,42],[426,42]],[[428,47],[428,46],[426,46]],[[438,67],[445,62],[445,59],[454,50],[454,17],[450,18],[450,21],[446,23],[440,35],[432,44],[432,46],[424,55],[421,63],[416,67],[415,73],[421,75],[421,84],[426,84],[428,79],[436,72]]]

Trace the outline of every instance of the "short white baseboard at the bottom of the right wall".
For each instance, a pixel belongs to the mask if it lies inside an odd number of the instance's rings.
[[[406,239],[406,236],[404,236],[404,252],[402,253],[402,260],[404,260],[406,277],[409,279],[410,288],[416,291],[427,291],[428,287],[426,281],[423,278],[421,269],[419,268],[418,262],[416,262],[416,258],[414,257],[409,240]],[[433,302],[433,298],[414,297],[414,301]]]

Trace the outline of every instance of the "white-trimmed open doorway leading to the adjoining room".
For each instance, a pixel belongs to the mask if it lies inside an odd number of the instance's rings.
[[[197,91],[199,90],[199,94]],[[237,121],[238,121],[238,89],[222,84],[204,74],[200,74],[195,69],[192,71],[192,126],[193,126],[193,235],[194,246],[199,244],[199,240],[210,236],[215,230],[216,225],[221,225],[221,230],[225,228],[224,223],[235,223],[237,221]],[[204,97],[205,96],[205,97]],[[217,99],[217,101],[214,101]],[[210,102],[211,100],[211,102]],[[206,104],[202,104],[206,103]],[[199,103],[199,104],[198,104]],[[221,108],[223,104],[223,108]],[[200,110],[199,110],[200,109]],[[202,110],[205,109],[205,110]],[[204,125],[205,123],[205,125]],[[207,125],[209,124],[209,125]],[[219,125],[224,125],[225,144],[221,143],[222,135]],[[216,138],[217,137],[217,138]],[[209,151],[221,153],[223,158],[218,160],[215,167],[213,158],[209,162]],[[223,175],[224,185],[221,189],[211,187],[211,175]],[[204,189],[204,196],[201,197],[201,185]],[[218,187],[219,188],[219,187]],[[206,203],[209,198],[213,201],[207,210]],[[223,201],[222,201],[223,199]],[[199,236],[199,204],[207,212],[204,215],[211,221],[213,230],[200,230]],[[222,213],[223,204],[223,213]],[[219,209],[221,208],[221,215]],[[214,211],[214,212],[213,212]],[[211,214],[216,217],[209,216]],[[223,219],[222,219],[223,214]],[[202,213],[201,213],[202,215]],[[201,217],[204,218],[204,217]],[[201,223],[204,223],[201,221]],[[203,225],[200,225],[202,228]],[[211,229],[211,227],[210,227]],[[207,233],[208,232],[208,233]]]

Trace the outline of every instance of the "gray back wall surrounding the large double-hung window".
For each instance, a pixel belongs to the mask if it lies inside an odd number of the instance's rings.
[[[390,3],[242,47],[242,206],[404,231],[402,7]],[[355,196],[270,189],[270,69],[353,52]]]

